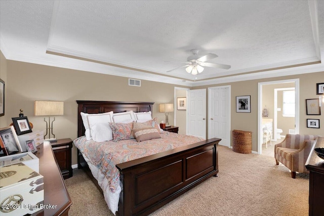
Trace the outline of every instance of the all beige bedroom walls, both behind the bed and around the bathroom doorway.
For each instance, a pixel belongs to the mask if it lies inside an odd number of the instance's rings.
[[[5,66],[3,62],[5,62]],[[321,125],[324,124],[323,108],[322,115],[309,116],[306,115],[305,106],[306,99],[318,97],[315,87],[316,83],[324,82],[323,77],[324,72],[318,72],[215,84],[191,89],[231,85],[231,130],[251,131],[252,149],[257,151],[258,82],[300,78],[300,134],[324,136],[323,126],[320,129],[306,127],[306,118],[320,119]],[[43,117],[35,117],[33,114],[34,101],[64,101],[64,115],[57,116],[54,122],[54,134],[58,139],[69,137],[73,140],[77,136],[76,100],[155,102],[153,117],[158,117],[159,121],[165,120],[165,115],[158,112],[158,104],[175,101],[175,85],[173,84],[142,80],[141,87],[130,87],[126,77],[5,60],[3,55],[1,55],[0,78],[6,81],[6,115],[0,117],[0,125],[8,125],[11,122],[11,117],[18,116],[19,109],[24,109],[24,115],[34,124],[33,130],[44,130]],[[244,95],[251,95],[251,113],[236,113],[235,97]],[[178,112],[177,115],[181,116]],[[178,126],[181,121],[183,120],[177,118]],[[173,113],[170,113],[169,122],[174,124]],[[182,130],[182,127],[179,129]],[[180,132],[185,134],[183,131]],[[75,147],[72,154],[72,164],[75,164]]]

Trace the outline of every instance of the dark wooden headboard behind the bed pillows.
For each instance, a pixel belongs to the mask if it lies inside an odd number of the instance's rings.
[[[83,125],[80,112],[84,113],[104,113],[113,111],[127,112],[153,112],[154,102],[119,102],[119,101],[76,101],[77,108],[77,137],[85,135],[86,129]]]

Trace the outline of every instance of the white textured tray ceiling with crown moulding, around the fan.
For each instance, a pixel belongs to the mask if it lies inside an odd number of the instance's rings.
[[[0,8],[10,60],[188,86],[324,71],[324,1],[2,0]],[[231,68],[166,72],[191,49]]]

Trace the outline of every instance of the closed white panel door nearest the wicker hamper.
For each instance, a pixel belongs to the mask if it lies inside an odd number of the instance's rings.
[[[208,138],[222,139],[219,144],[230,146],[230,91],[229,87],[208,90]]]

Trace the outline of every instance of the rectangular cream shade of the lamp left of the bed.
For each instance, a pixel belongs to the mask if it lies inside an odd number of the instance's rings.
[[[34,103],[35,116],[46,115],[63,115],[63,101],[35,101]]]

